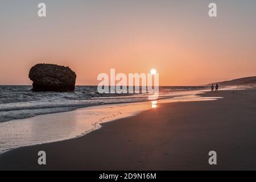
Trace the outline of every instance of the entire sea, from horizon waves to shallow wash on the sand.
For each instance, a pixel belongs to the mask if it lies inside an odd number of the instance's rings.
[[[14,148],[72,139],[101,123],[129,117],[165,102],[214,100],[196,96],[204,86],[161,86],[147,94],[98,94],[97,86],[75,92],[32,92],[31,86],[0,86],[0,154]],[[65,112],[65,113],[63,113]]]

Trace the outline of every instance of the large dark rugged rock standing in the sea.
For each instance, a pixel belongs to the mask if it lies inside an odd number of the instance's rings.
[[[76,73],[56,64],[36,64],[30,69],[34,92],[71,92],[75,90]]]

